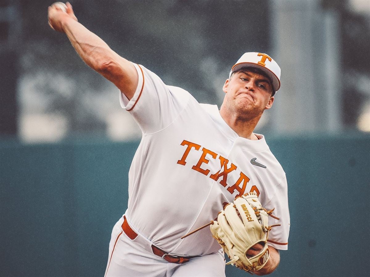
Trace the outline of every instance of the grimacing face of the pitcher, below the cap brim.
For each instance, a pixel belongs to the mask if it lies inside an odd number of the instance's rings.
[[[223,91],[228,109],[248,118],[262,115],[274,101],[271,81],[248,69],[238,71],[226,80]]]

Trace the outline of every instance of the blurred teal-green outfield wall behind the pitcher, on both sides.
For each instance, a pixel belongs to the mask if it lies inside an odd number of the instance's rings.
[[[291,216],[272,276],[367,276],[370,136],[267,141],[287,175]],[[138,143],[0,141],[0,275],[103,276]]]

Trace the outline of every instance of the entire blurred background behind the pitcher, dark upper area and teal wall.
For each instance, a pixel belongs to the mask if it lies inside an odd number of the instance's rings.
[[[0,0],[1,276],[103,276],[141,138],[118,89],[48,26],[52,3]],[[286,171],[291,231],[272,275],[369,273],[370,0],[70,3],[199,102],[220,107],[243,53],[274,58],[282,86],[256,132]]]

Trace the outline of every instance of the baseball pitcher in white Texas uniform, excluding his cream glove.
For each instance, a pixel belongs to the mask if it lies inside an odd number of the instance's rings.
[[[266,210],[275,208],[269,224],[279,226],[269,232],[270,256],[256,274],[275,270],[289,235],[287,183],[264,136],[253,130],[280,87],[276,62],[243,54],[223,85],[219,110],[120,57],[77,22],[69,3],[66,12],[49,7],[48,19],[86,64],[117,86],[121,107],[142,131],[129,170],[128,209],[113,227],[105,276],[225,276],[224,253],[209,228],[181,237],[249,192]],[[256,244],[246,255],[261,249]]]

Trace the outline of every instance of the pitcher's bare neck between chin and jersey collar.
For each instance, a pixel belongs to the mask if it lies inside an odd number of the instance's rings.
[[[228,113],[225,109],[220,110],[222,119],[234,130],[238,136],[242,138],[251,139],[252,141],[258,140],[257,136],[253,134],[253,130],[256,128],[259,119],[262,114],[257,117],[240,117],[235,114]]]

